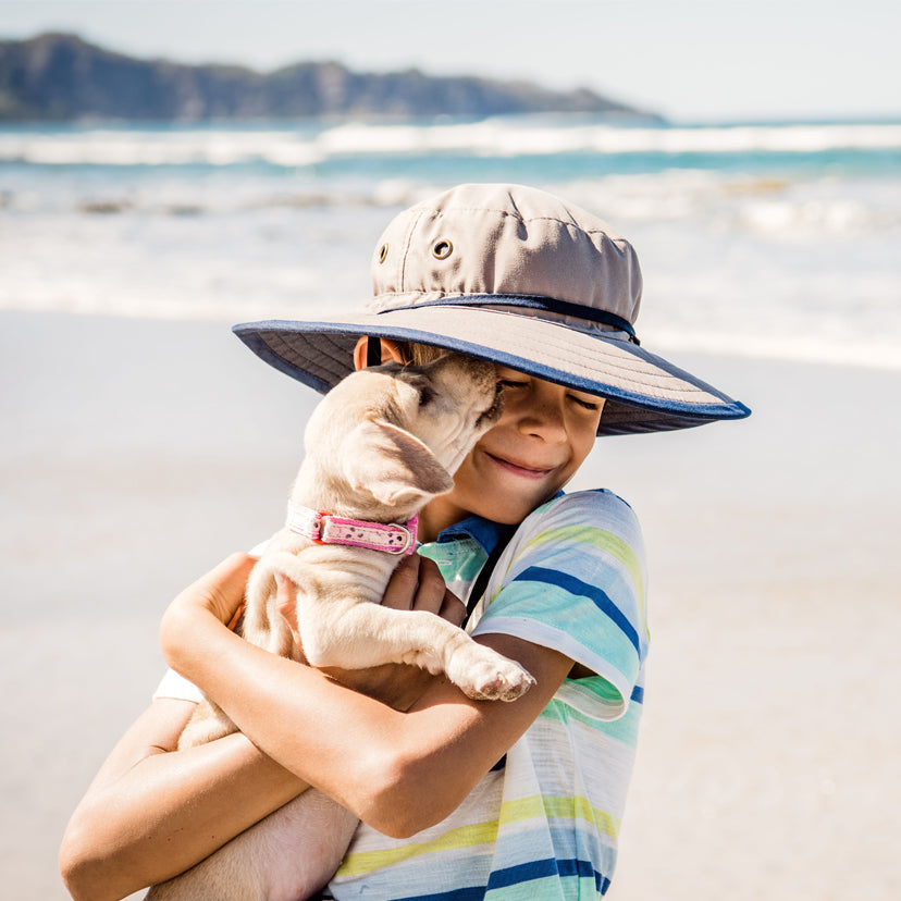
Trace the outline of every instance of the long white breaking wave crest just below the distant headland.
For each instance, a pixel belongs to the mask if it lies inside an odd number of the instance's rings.
[[[227,166],[266,163],[293,169],[334,158],[460,153],[823,153],[901,151],[899,124],[621,127],[544,123],[540,118],[455,124],[262,128],[89,128],[0,131],[0,162],[35,165]]]

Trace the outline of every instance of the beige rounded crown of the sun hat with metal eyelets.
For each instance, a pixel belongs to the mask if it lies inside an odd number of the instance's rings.
[[[546,297],[633,323],[642,276],[632,245],[590,212],[534,188],[461,185],[392,221],[377,244],[372,286],[373,311],[470,296]],[[579,311],[551,312],[591,328],[576,321]]]

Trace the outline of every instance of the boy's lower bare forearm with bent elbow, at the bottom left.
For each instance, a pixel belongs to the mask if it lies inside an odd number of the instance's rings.
[[[306,788],[244,736],[101,770],[60,864],[73,897],[123,898],[183,873]]]

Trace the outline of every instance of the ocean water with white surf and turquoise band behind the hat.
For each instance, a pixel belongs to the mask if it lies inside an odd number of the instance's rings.
[[[390,218],[467,181],[629,237],[647,346],[901,369],[901,122],[4,126],[0,308],[338,312]]]

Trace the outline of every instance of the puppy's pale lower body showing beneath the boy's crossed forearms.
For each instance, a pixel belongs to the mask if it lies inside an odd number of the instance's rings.
[[[305,901],[332,878],[358,822],[307,789],[186,873],[153,886],[145,901]]]

